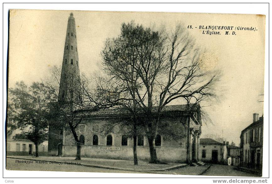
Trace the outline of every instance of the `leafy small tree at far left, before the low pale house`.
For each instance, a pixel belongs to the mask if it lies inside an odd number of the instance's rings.
[[[33,82],[27,87],[23,81],[17,82],[15,88],[9,88],[10,101],[14,105],[11,120],[23,134],[35,144],[39,156],[38,145],[46,140],[48,133],[48,103],[52,100],[52,89],[42,82]]]

